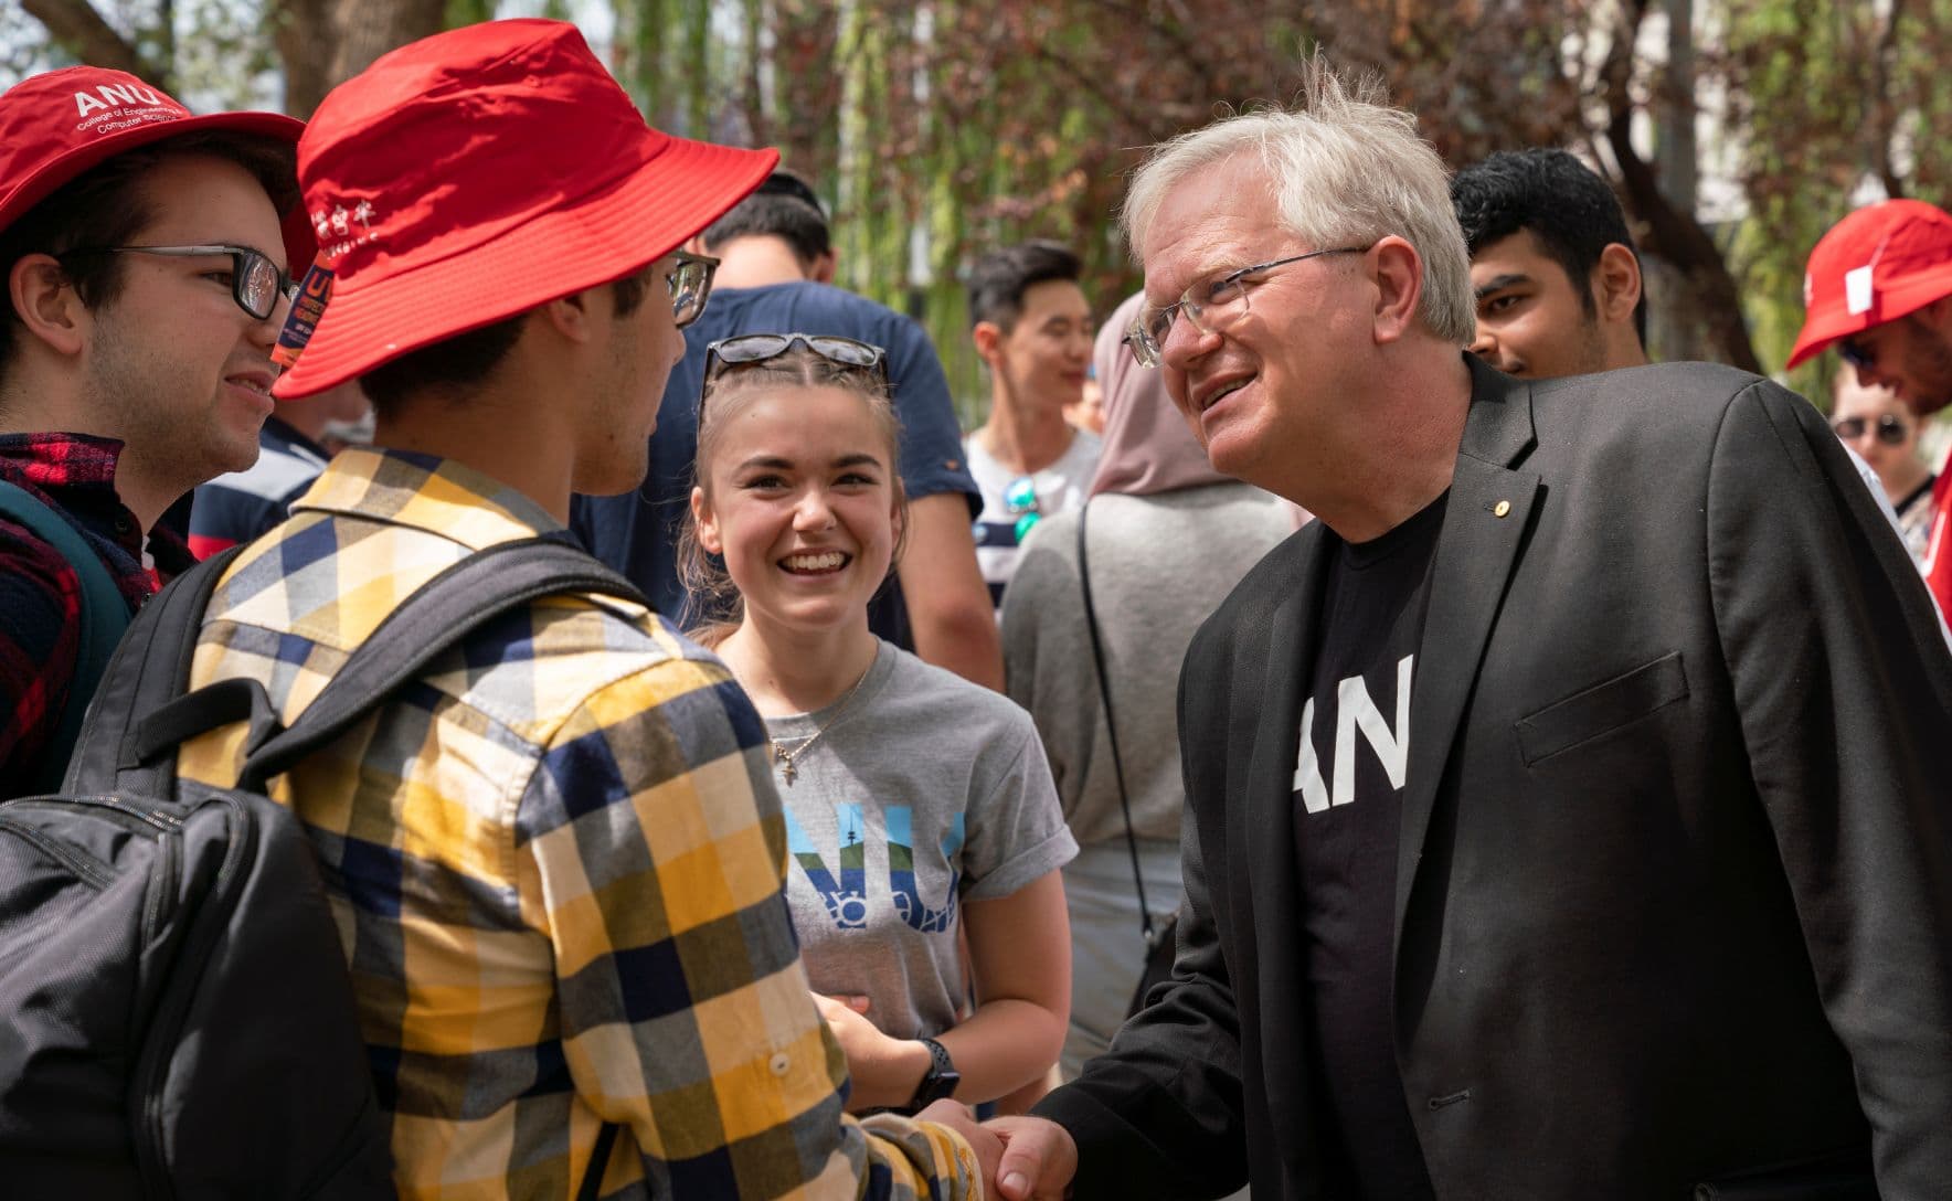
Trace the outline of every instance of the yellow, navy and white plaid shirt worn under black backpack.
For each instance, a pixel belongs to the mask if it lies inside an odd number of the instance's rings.
[[[226,570],[193,685],[254,678],[289,723],[414,588],[556,529],[459,463],[346,451]],[[242,738],[187,744],[182,787],[230,785]],[[572,1195],[605,1121],[605,1197],[982,1197],[951,1131],[841,1113],[763,746],[716,658],[568,596],[275,783],[318,849],[402,1197]]]

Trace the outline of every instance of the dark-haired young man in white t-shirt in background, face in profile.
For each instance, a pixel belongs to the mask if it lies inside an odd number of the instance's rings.
[[[1042,518],[1078,508],[1103,441],[1064,420],[1091,371],[1091,305],[1078,256],[1056,242],[1023,242],[970,268],[970,340],[990,369],[990,418],[964,451],[982,488],[976,562],[990,600],[1017,570],[1017,547]]]

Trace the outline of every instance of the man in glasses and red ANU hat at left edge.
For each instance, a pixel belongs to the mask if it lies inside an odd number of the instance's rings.
[[[164,510],[258,457],[303,129],[94,66],[0,96],[0,799],[61,783],[115,639],[189,566]]]

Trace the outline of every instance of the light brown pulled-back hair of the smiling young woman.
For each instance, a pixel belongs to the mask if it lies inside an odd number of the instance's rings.
[[[894,398],[880,371],[835,363],[806,344],[794,344],[753,363],[720,363],[705,381],[705,391],[699,396],[699,451],[691,463],[693,484],[705,490],[705,500],[711,504],[711,463],[726,422],[755,396],[783,389],[841,389],[859,396],[867,406],[869,418],[888,449],[888,482],[902,516],[902,529],[888,560],[888,572],[894,574],[894,564],[902,560],[902,547],[908,545],[908,492],[902,488],[900,475],[902,420],[894,414]],[[716,646],[738,629],[746,615],[738,584],[726,572],[724,560],[699,545],[699,521],[689,506],[677,531],[677,582],[685,586],[685,611],[679,615],[685,633],[705,646]]]

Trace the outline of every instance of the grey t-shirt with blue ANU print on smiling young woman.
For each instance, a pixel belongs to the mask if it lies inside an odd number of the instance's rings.
[[[794,758],[787,904],[816,992],[865,994],[896,1039],[937,1035],[968,996],[962,900],[1009,896],[1078,853],[1031,715],[888,642],[851,701],[767,719]]]

